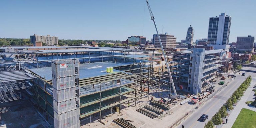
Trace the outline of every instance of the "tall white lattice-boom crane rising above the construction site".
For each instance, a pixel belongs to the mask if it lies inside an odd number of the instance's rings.
[[[172,85],[172,88],[173,88],[173,91],[174,91],[174,94],[177,95],[176,93],[176,89],[175,89],[175,86],[174,86],[174,82],[173,82],[173,79],[172,79],[172,74],[171,74],[171,70],[170,70],[170,67],[168,65],[168,60],[166,59],[166,56],[165,56],[165,52],[164,52],[164,48],[163,48],[163,44],[162,44],[162,41],[160,39],[160,36],[158,34],[158,30],[157,30],[157,27],[156,27],[156,23],[155,23],[155,17],[151,11],[151,8],[149,6],[149,3],[148,3],[148,0],[146,0],[147,2],[147,5],[148,5],[148,10],[149,10],[149,13],[150,13],[150,16],[151,16],[151,20],[153,20],[154,22],[154,25],[155,25],[155,28],[156,28],[156,33],[157,33],[157,36],[158,36],[158,39],[159,39],[159,42],[160,42],[160,45],[161,45],[161,49],[162,49],[162,52],[163,52],[163,55],[164,55],[164,60],[165,60],[165,63],[166,63],[166,67],[168,69],[168,74],[169,74],[169,77],[170,77],[170,82],[171,82],[171,85]],[[170,89],[170,92],[171,92],[172,89]]]

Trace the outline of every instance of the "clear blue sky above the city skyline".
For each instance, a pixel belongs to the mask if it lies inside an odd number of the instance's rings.
[[[149,0],[159,33],[177,41],[190,24],[195,39],[207,38],[209,17],[232,17],[229,43],[237,36],[256,36],[256,0]],[[126,40],[140,35],[151,40],[153,22],[144,0],[1,0],[0,37]]]

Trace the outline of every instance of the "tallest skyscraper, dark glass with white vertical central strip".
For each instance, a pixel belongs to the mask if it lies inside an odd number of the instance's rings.
[[[228,45],[231,16],[221,13],[219,17],[211,17],[208,28],[207,44]]]

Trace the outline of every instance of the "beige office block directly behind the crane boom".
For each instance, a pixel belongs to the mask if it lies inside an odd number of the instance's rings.
[[[168,33],[159,34],[159,36],[162,41],[162,45],[164,49],[176,48],[176,39],[177,39],[176,37],[174,37],[173,35],[168,35]],[[161,48],[158,37],[156,36],[154,39],[155,39],[155,47]]]

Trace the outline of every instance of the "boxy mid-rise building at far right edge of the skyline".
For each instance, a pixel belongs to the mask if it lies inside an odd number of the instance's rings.
[[[254,46],[253,36],[237,37],[236,50],[254,52],[253,46]]]

